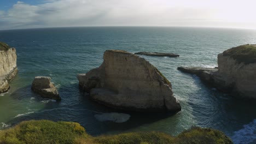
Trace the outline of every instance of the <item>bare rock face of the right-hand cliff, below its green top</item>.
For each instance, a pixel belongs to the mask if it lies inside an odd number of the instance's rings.
[[[256,98],[256,63],[238,63],[230,56],[218,55],[218,73],[225,85],[240,97]]]

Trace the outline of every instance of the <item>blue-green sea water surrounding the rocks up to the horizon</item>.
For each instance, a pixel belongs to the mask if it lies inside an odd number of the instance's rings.
[[[256,101],[244,101],[203,85],[177,67],[217,67],[217,55],[230,47],[256,44],[256,31],[178,27],[80,27],[0,31],[0,41],[16,48],[19,74],[0,97],[1,129],[28,119],[78,122],[91,135],[127,131],[163,131],[177,135],[192,125],[224,131],[235,143],[256,140]],[[171,81],[182,111],[174,116],[117,111],[98,105],[79,92],[79,73],[98,67],[103,52],[172,52],[178,58],[146,58]],[[34,76],[50,76],[61,102],[31,92]],[[124,123],[101,122],[98,113],[130,115]],[[245,141],[246,140],[246,141]]]

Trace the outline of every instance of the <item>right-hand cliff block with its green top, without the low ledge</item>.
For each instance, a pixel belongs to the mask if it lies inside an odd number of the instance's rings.
[[[233,52],[237,50],[241,52]],[[234,94],[256,98],[256,45],[238,46],[220,53],[218,67],[225,86],[232,87]]]

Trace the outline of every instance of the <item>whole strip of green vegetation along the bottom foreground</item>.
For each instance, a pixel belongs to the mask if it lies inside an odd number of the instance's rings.
[[[0,131],[0,143],[232,143],[219,130],[193,127],[174,137],[160,132],[136,132],[92,137],[74,122],[25,121]]]

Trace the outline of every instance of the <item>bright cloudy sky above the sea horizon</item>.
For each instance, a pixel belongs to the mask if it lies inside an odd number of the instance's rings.
[[[0,30],[80,26],[256,29],[255,0],[0,0]]]

